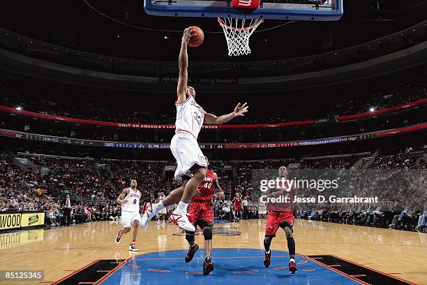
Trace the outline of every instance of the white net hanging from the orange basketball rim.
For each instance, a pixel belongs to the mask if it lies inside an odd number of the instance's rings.
[[[218,17],[218,22],[223,27],[228,55],[231,57],[232,55],[250,54],[249,38],[264,20]]]

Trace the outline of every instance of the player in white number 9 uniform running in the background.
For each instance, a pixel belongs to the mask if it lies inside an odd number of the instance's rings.
[[[130,187],[123,189],[117,203],[121,205],[121,222],[123,228],[116,235],[116,243],[119,244],[121,237],[125,233],[130,232],[130,228],[133,228],[132,243],[129,245],[130,251],[139,251],[136,247],[136,238],[138,234],[138,227],[140,226],[141,215],[140,215],[140,199],[141,192],[136,189],[136,180],[130,181]]]

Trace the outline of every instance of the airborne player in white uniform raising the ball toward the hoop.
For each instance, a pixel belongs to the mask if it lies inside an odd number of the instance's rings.
[[[188,27],[183,31],[181,52],[179,52],[179,78],[177,87],[177,120],[175,122],[175,136],[170,143],[170,149],[177,159],[175,180],[182,182],[181,187],[174,189],[163,200],[156,204],[150,204],[142,215],[141,226],[147,226],[147,222],[164,207],[173,205],[179,201],[177,209],[171,214],[170,219],[185,231],[195,231],[194,226],[188,221],[187,207],[197,187],[206,176],[207,163],[197,144],[197,136],[202,124],[224,124],[231,119],[244,116],[248,112],[246,103],[237,104],[230,114],[216,117],[207,113],[195,101],[195,89],[187,86],[188,81],[188,55],[187,44],[190,38],[196,36],[194,29]]]

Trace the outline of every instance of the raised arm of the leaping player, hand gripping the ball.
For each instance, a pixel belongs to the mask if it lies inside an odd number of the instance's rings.
[[[177,87],[177,104],[181,104],[186,101],[186,92],[187,92],[187,81],[188,81],[188,54],[187,54],[187,45],[190,38],[197,36],[193,34],[195,29],[190,29],[188,27],[183,31],[182,41],[181,41],[181,51],[179,52],[178,67],[179,67],[179,76],[178,76],[178,87]]]

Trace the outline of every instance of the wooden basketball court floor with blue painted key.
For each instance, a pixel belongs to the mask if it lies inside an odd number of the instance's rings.
[[[110,277],[114,274],[119,274],[123,270],[128,271],[123,271],[122,275],[136,276],[138,279],[123,279],[122,277],[121,284],[147,284],[147,281],[144,282],[144,276],[148,278],[148,272],[143,272],[144,265],[136,263],[136,260],[139,260],[138,262],[147,261],[147,265],[151,268],[148,270],[149,273],[154,274],[153,272],[155,272],[157,274],[155,278],[159,281],[161,279],[165,279],[165,281],[172,280],[170,279],[172,276],[175,276],[173,278],[180,276],[179,272],[174,272],[174,270],[182,269],[183,276],[191,274],[196,276],[198,272],[201,272],[200,260],[197,260],[197,258],[196,261],[192,261],[195,264],[191,265],[193,266],[191,269],[188,269],[190,263],[183,261],[188,244],[184,239],[184,235],[174,225],[156,226],[156,223],[151,221],[147,229],[140,229],[137,239],[137,247],[139,247],[140,252],[135,253],[128,251],[130,235],[125,235],[121,244],[114,243],[114,237],[119,228],[121,228],[120,222],[100,221],[50,230],[1,233],[0,270],[45,271],[45,280],[43,282],[18,282],[19,284],[51,284],[61,279],[60,284],[94,284],[98,280],[103,281],[103,284],[115,284],[116,282],[110,282],[112,280]],[[280,232],[280,229],[271,245],[273,251],[272,260],[276,263],[276,267],[267,269],[263,268],[262,264],[264,221],[258,224],[257,220],[244,220],[239,223],[216,224],[215,228],[212,256],[216,270],[211,272],[209,276],[197,275],[197,280],[203,280],[206,284],[207,279],[213,278],[217,274],[217,276],[221,275],[223,282],[226,282],[225,284],[237,283],[237,279],[233,279],[234,281],[230,279],[230,282],[227,282],[227,275],[220,274],[221,263],[225,264],[226,261],[229,261],[227,252],[230,253],[230,258],[236,258],[233,263],[230,263],[231,267],[237,266],[238,263],[240,264],[240,269],[247,267],[246,270],[232,271],[230,276],[237,276],[237,273],[240,273],[240,277],[246,274],[246,284],[252,284],[251,276],[260,273],[262,273],[263,278],[278,274],[278,272],[283,274],[283,277],[289,274],[285,269],[288,257],[286,253],[282,252],[287,251],[287,243],[285,234]],[[306,265],[304,263],[310,261],[309,263],[317,266],[316,268],[324,268],[322,270],[326,270],[328,276],[329,273],[334,273],[336,276],[339,275],[339,277],[345,277],[355,282],[355,284],[370,284],[366,280],[363,281],[363,278],[357,279],[361,275],[366,275],[366,273],[352,275],[348,272],[341,272],[340,268],[348,268],[350,263],[355,268],[359,268],[359,270],[363,270],[365,267],[372,268],[373,270],[370,271],[379,271],[377,273],[386,277],[388,284],[402,284],[398,283],[398,279],[404,279],[415,284],[427,284],[426,233],[297,219],[294,227],[294,238],[301,261],[299,262],[299,271],[290,278],[298,278],[298,275],[299,277],[307,275],[307,278],[310,278],[310,274],[315,270],[320,272],[320,269],[309,269],[308,267],[304,269]],[[200,247],[203,247],[203,236],[197,235],[196,242],[200,244]],[[249,249],[256,249],[256,251],[249,251]],[[182,250],[182,252],[176,250]],[[171,252],[177,255],[172,258],[168,257],[166,253],[159,253],[159,251]],[[203,250],[200,250],[199,253],[202,254],[202,252]],[[157,254],[160,258],[143,258],[145,256],[144,253]],[[183,255],[181,255],[182,253]],[[133,256],[137,256],[137,258],[132,258]],[[253,257],[253,264],[249,263],[251,257]],[[157,264],[156,261],[158,260],[173,260],[173,265]],[[104,263],[107,265],[100,264],[100,261],[105,261]],[[337,264],[331,264],[331,262]],[[94,264],[98,266],[98,268],[95,268],[98,275],[91,277],[91,273],[86,271],[89,268],[93,268]],[[280,264],[281,266],[279,266]],[[103,269],[103,266],[105,269]],[[135,273],[135,270],[139,271]],[[82,272],[86,272],[85,275],[82,275]],[[112,274],[113,272],[114,274]],[[83,276],[79,278],[91,277],[92,279],[72,282],[70,277],[63,278],[68,275],[77,278],[77,275],[80,276],[79,274]],[[315,280],[321,280],[322,276],[327,276],[326,272],[318,273],[316,276],[317,279],[312,279],[311,284],[331,283],[331,279],[325,279],[324,282],[315,282]],[[393,279],[389,276],[398,277],[398,279]],[[186,278],[182,280],[185,281]],[[197,283],[197,280],[195,283]],[[213,279],[211,281],[215,283]],[[394,281],[397,283],[394,283]],[[17,282],[5,281],[0,283],[17,284]],[[168,284],[168,282],[163,282],[163,284]],[[181,284],[181,282],[175,279],[175,284]],[[293,282],[292,284],[299,283]],[[374,282],[374,284],[379,283]]]

